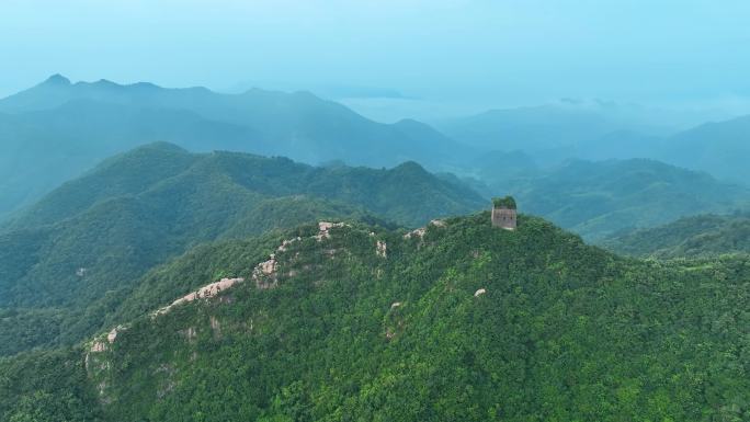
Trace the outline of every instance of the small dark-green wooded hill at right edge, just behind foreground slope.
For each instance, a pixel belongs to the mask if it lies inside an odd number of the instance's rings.
[[[601,241],[636,256],[684,258],[750,253],[750,216],[704,214],[649,229],[625,230]]]

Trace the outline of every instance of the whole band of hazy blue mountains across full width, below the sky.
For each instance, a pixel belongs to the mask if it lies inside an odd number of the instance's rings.
[[[616,166],[611,161],[561,170],[569,166],[565,157],[650,157],[707,171],[719,179],[750,182],[743,160],[750,156],[750,117],[664,135],[678,126],[678,119],[667,118],[667,127],[657,127],[658,118],[643,115],[643,111],[606,103],[490,111],[441,123],[448,137],[416,121],[376,123],[305,92],[254,89],[220,94],[204,88],[164,89],[150,83],[71,83],[54,76],[0,100],[0,137],[4,140],[0,145],[0,219],[8,219],[100,160],[150,141],[170,141],[192,151],[251,151],[331,166],[393,167],[417,161],[465,180],[474,178],[474,187],[487,197],[514,192],[527,209],[589,239],[624,227],[647,227],[680,216],[742,207],[745,192],[738,186],[707,182],[709,176],[686,170],[667,170],[655,161],[637,166],[633,164],[636,161]],[[606,170],[613,166],[622,172]],[[644,178],[641,172],[651,176]],[[664,172],[671,175],[661,180]],[[627,181],[632,191],[615,194],[601,182],[612,178]],[[553,179],[569,190],[538,196]],[[694,179],[703,182],[692,186],[678,181]],[[648,184],[639,184],[643,181]],[[650,183],[656,181],[660,182]],[[576,187],[576,183],[582,185]],[[728,196],[704,195],[708,185]],[[652,196],[655,186],[661,186],[663,194]],[[587,192],[595,206],[587,205],[579,212],[571,205],[580,199],[575,192],[588,187],[593,189]],[[623,202],[636,191],[643,195],[633,196],[634,204],[649,203],[651,212]],[[560,192],[573,196],[564,197]],[[668,205],[663,198],[673,195],[683,196]],[[704,202],[703,197],[715,199]]]

